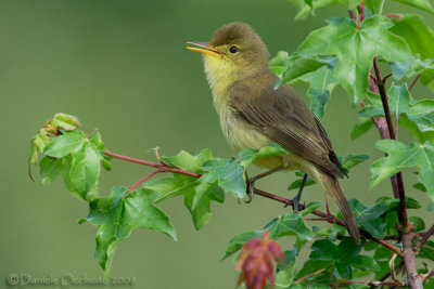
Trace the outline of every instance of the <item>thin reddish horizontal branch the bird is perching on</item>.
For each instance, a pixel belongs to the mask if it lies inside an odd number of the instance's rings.
[[[131,158],[131,157],[118,155],[118,154],[115,154],[115,153],[111,153],[111,152],[107,152],[107,150],[103,150],[103,154],[107,155],[107,156],[111,156],[113,158],[117,158],[117,159],[122,159],[122,160],[126,160],[126,161],[130,161],[130,162],[135,162],[135,163],[139,163],[139,165],[143,165],[143,166],[148,166],[148,167],[153,167],[153,168],[158,168],[159,169],[159,170],[156,170],[154,173],[151,173],[150,175],[148,175],[148,176],[143,178],[142,180],[140,180],[138,182],[139,184],[141,182],[148,180],[149,178],[151,178],[155,173],[163,172],[163,171],[164,172],[180,173],[180,174],[189,175],[189,176],[196,178],[196,179],[202,176],[202,174],[199,174],[199,173],[193,173],[193,172],[189,172],[189,171],[186,171],[186,170],[175,169],[175,168],[169,167],[167,165],[158,165],[158,163],[154,163],[154,162],[146,161],[146,160]],[[255,194],[259,195],[259,196],[263,196],[265,198],[269,198],[269,199],[282,202],[282,203],[284,203],[286,206],[292,206],[293,205],[293,201],[290,200],[290,199],[280,197],[278,195],[275,195],[275,194],[271,194],[271,193],[264,192],[264,191],[258,189],[258,188],[255,188]],[[299,210],[303,210],[304,208],[305,208],[304,205],[302,205],[302,203],[298,205],[298,209]],[[346,224],[345,224],[344,221],[342,221],[341,219],[337,219],[336,216],[334,216],[332,214],[324,213],[324,212],[321,212],[321,211],[318,211],[318,210],[315,210],[311,213],[322,218],[321,219],[322,221],[327,221],[330,224],[337,224],[340,226],[346,227]],[[396,247],[395,245],[390,244],[388,241],[386,241],[384,239],[375,238],[369,232],[367,232],[367,231],[365,231],[362,228],[360,228],[360,234],[363,235],[365,237],[367,237],[368,239],[371,239],[371,240],[373,240],[373,241],[386,247],[387,249],[392,250],[393,252],[400,254],[399,248]]]

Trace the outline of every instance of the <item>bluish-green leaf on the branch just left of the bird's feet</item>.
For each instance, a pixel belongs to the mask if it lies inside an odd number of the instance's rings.
[[[235,158],[209,159],[202,168],[207,173],[200,179],[201,182],[218,182],[218,185],[222,189],[232,193],[235,198],[243,198],[245,196],[244,169]]]

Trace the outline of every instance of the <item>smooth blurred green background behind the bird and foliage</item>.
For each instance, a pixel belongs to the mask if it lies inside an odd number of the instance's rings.
[[[386,5],[385,11],[416,12],[398,4]],[[111,150],[148,160],[154,160],[150,148],[155,146],[163,155],[209,147],[216,156],[230,157],[233,153],[220,132],[202,60],[187,51],[184,42],[206,41],[222,24],[241,21],[256,29],[271,55],[292,52],[310,30],[324,25],[324,18],[346,16],[347,11],[333,6],[317,14],[294,22],[295,11],[284,0],[1,0],[0,277],[103,275],[93,260],[97,228],[77,224],[87,215],[87,205],[71,196],[61,180],[43,186],[37,172],[35,183],[27,176],[30,137],[47,118],[58,111],[75,115],[87,132],[99,128]],[[433,26],[433,17],[425,18]],[[296,89],[305,96],[305,87]],[[427,93],[419,84],[413,94],[430,97]],[[349,140],[355,113],[345,92],[336,89],[324,127],[339,155],[369,154],[375,159],[381,156],[372,147],[375,131]],[[404,132],[400,135],[408,140]],[[114,169],[101,178],[103,195],[114,185],[131,186],[151,172],[138,165],[112,163]],[[369,163],[342,182],[348,198],[362,196],[367,205],[391,195],[388,183],[368,191]],[[285,187],[293,178],[280,173],[257,185],[290,196]],[[405,178],[413,180],[409,173]],[[407,183],[409,195],[426,202],[411,184]],[[306,192],[305,201],[323,199],[318,187]],[[232,262],[219,262],[228,240],[288,211],[261,197],[240,206],[228,195],[224,205],[213,205],[210,222],[195,232],[181,197],[164,201],[161,208],[179,240],[149,229],[133,232],[115,254],[112,276],[136,277],[137,288],[233,288],[238,273]],[[292,248],[293,240],[283,239],[281,245]]]

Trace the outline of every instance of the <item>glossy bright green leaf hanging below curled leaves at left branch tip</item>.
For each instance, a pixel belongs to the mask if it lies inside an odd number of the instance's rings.
[[[100,150],[90,142],[81,145],[81,148],[74,155],[71,163],[69,182],[72,188],[87,199],[88,192],[97,183],[100,175]]]

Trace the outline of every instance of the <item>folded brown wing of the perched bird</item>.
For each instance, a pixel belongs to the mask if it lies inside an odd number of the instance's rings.
[[[320,121],[289,86],[275,90],[276,80],[268,76],[233,84],[230,105],[234,113],[288,152],[342,178],[344,171]]]

